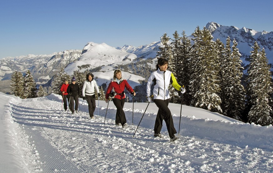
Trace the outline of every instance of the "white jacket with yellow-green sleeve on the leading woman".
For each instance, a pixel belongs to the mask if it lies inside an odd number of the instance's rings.
[[[173,87],[177,90],[181,90],[181,86],[177,83],[173,73],[169,70],[160,71],[160,69],[154,71],[147,82],[147,97],[151,96],[151,86],[154,82],[153,95],[154,99],[169,99],[169,84],[172,84]]]

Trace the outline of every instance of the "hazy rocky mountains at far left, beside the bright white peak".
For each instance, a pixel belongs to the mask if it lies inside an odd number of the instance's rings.
[[[19,57],[7,57],[0,60],[0,79],[10,79],[12,73],[17,70],[23,74],[30,69],[34,79],[39,82],[47,82],[58,73],[61,67],[66,67],[81,56],[81,50],[66,50],[50,55],[33,55]]]

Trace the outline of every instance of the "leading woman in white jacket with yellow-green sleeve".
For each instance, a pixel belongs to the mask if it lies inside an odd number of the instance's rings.
[[[167,70],[168,68],[168,60],[164,58],[160,58],[156,64],[156,71],[154,71],[147,83],[147,97],[148,101],[152,102],[151,99],[151,86],[154,84],[153,96],[154,103],[159,108],[157,112],[157,116],[154,123],[154,136],[162,138],[163,136],[160,134],[163,120],[166,123],[167,130],[169,133],[170,141],[177,140],[174,134],[176,134],[176,130],[174,128],[173,117],[170,109],[168,108],[168,104],[170,101],[169,95],[169,84],[172,84],[173,87],[181,92],[185,92],[185,89],[182,88],[176,81],[172,72]]]

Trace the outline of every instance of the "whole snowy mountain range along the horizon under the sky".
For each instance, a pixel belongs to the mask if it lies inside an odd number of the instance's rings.
[[[215,22],[207,23],[206,28],[212,33],[214,40],[219,38],[224,44],[228,36],[231,40],[235,38],[238,42],[237,48],[242,53],[243,63],[248,64],[245,59],[250,55],[251,46],[255,41],[261,48],[265,48],[269,63],[273,63],[273,32],[257,32],[245,27],[239,29],[235,26],[228,27]],[[182,33],[182,31],[178,32]],[[172,34],[168,33],[169,37],[172,37]],[[161,36],[158,37],[160,39]],[[190,39],[192,36],[188,36],[188,38]],[[89,42],[83,47],[83,50],[66,50],[50,55],[30,54],[16,58],[7,57],[0,59],[0,79],[9,80],[15,70],[25,73],[27,69],[30,69],[34,79],[43,84],[54,74],[57,74],[60,67],[65,67],[68,74],[72,74],[74,70],[84,71],[97,67],[100,67],[100,73],[105,73],[120,64],[155,58],[159,47],[162,46],[160,41],[137,48],[131,45],[113,48],[105,43]],[[105,73],[105,75],[108,74]],[[109,75],[112,76],[112,74]]]

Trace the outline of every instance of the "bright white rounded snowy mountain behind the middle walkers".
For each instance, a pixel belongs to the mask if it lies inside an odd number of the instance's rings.
[[[64,70],[67,74],[72,75],[75,70],[84,72],[85,70],[99,67],[96,72],[93,72],[94,76],[97,77],[96,81],[98,85],[111,81],[115,66],[129,64],[137,59],[135,54],[121,51],[105,43],[89,42],[84,46],[82,52],[81,57],[73,63],[68,64]],[[128,72],[122,72],[122,76],[128,80],[128,83],[132,87],[139,85],[138,80],[144,80],[143,77]]]

